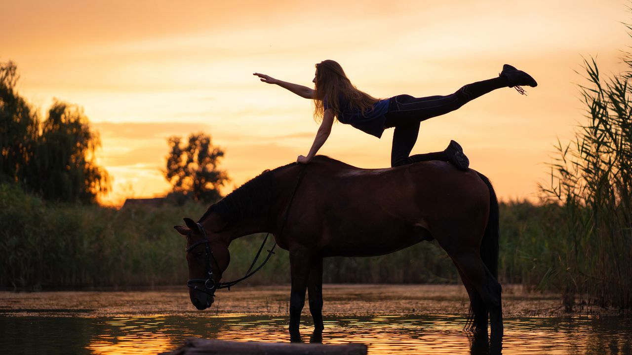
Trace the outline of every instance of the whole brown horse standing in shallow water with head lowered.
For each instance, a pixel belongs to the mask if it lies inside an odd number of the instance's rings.
[[[302,180],[301,180],[302,179]],[[264,171],[209,207],[198,223],[176,226],[187,237],[191,302],[213,303],[228,246],[236,238],[271,232],[289,251],[289,333],[309,292],[318,340],[322,321],[322,263],[327,256],[376,256],[436,239],[458,268],[470,296],[471,330],[502,339],[501,285],[497,282],[498,202],[489,180],[446,162],[390,169],[359,169],[329,157]]]

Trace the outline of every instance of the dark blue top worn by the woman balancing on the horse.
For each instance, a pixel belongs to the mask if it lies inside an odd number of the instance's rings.
[[[351,126],[360,129],[360,131],[380,138],[382,133],[384,133],[384,122],[386,121],[384,115],[388,112],[389,100],[384,99],[375,102],[373,108],[363,115],[359,109],[349,107],[349,103],[340,98],[339,103],[342,112],[338,114],[338,121],[344,124],[351,124]],[[324,100],[323,106],[327,109],[327,100]]]

